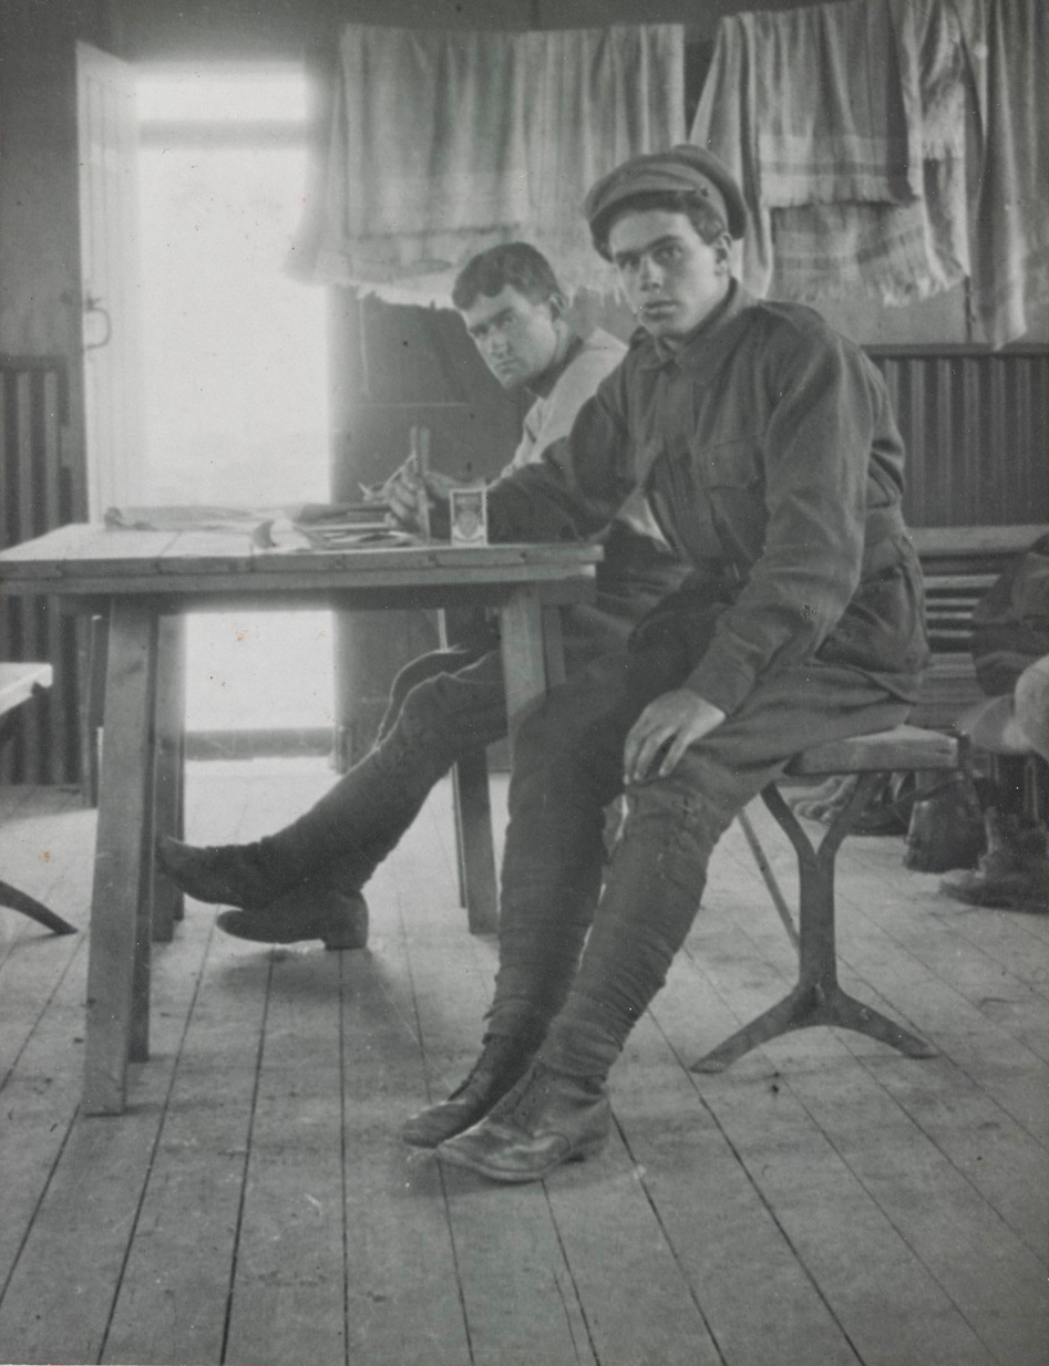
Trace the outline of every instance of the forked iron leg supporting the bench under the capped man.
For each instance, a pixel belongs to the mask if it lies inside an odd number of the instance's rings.
[[[838,985],[837,953],[834,948],[834,858],[838,846],[859,820],[870,800],[877,773],[864,773],[856,790],[834,818],[819,848],[814,848],[797,817],[784,800],[774,783],[762,792],[765,805],[773,813],[797,851],[800,873],[799,919],[800,947],[797,985],[781,1001],[765,1011],[749,1024],[744,1024],[723,1044],[692,1064],[693,1072],[722,1072],[749,1053],[759,1044],[796,1029],[832,1024],[868,1034],[882,1044],[905,1053],[907,1057],[934,1057],[934,1049],[923,1040],[849,996]]]

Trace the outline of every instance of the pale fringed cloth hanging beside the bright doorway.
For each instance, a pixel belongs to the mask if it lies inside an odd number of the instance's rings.
[[[484,247],[524,239],[606,290],[580,205],[617,163],[684,137],[684,30],[350,25],[293,269],[394,302],[447,302]]]

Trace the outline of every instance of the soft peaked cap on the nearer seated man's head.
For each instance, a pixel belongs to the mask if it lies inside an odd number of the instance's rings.
[[[607,225],[613,210],[639,194],[692,194],[704,199],[739,239],[747,231],[747,209],[728,168],[703,148],[680,143],[667,152],[630,157],[591,186],[583,201],[594,246],[607,257]]]

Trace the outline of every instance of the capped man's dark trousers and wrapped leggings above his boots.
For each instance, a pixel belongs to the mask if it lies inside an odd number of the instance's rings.
[[[626,734],[689,669],[688,652],[666,643],[602,658],[516,740],[488,1033],[544,1038],[540,1056],[561,1071],[607,1072],[666,979],[737,811],[800,750],[897,725],[909,709],[818,661],[763,680],[670,777],[629,790],[606,867],[603,810],[622,792]]]

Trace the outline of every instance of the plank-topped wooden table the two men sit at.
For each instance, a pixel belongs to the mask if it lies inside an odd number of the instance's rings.
[[[0,556],[0,590],[108,615],[105,727],[92,892],[83,1109],[122,1113],[149,1056],[153,844],[178,833],[183,617],[243,608],[484,605],[499,613],[510,734],[559,669],[566,602],[594,596],[585,545],[260,552],[248,531],[74,525]],[[544,632],[544,617],[547,630]]]

